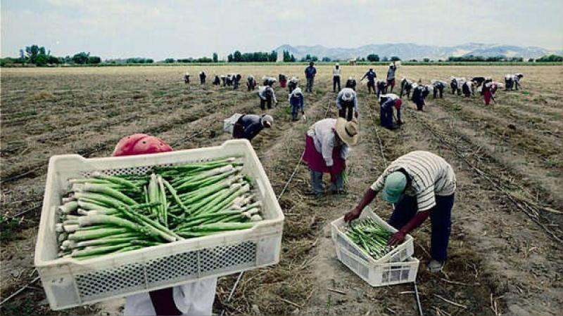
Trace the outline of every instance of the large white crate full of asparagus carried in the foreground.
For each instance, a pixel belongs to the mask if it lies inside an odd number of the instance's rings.
[[[51,157],[34,264],[53,310],[279,261],[284,215],[247,140]]]

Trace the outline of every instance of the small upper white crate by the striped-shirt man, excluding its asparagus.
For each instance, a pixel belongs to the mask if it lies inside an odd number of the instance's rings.
[[[397,230],[393,228],[393,226],[389,225],[385,220],[377,216],[377,214],[374,213],[372,209],[369,208],[369,206],[366,206],[364,211],[362,211],[362,215],[360,215],[360,218],[366,217],[373,218],[375,221],[377,221],[377,223],[381,224],[389,232],[397,232]],[[343,229],[346,227],[346,225],[348,224],[344,222],[343,216],[331,223],[332,241],[336,246],[336,251],[339,251],[339,249],[341,248],[346,249],[346,251],[350,252],[354,256],[362,258],[362,260],[369,263],[400,262],[405,261],[407,258],[412,256],[412,254],[415,254],[415,239],[412,238],[411,235],[407,234],[405,236],[405,241],[402,244],[396,246],[395,249],[390,251],[385,256],[379,258],[378,260],[375,260],[372,256],[365,254],[365,252],[362,251],[362,249],[358,245],[356,245],[354,242],[352,242],[352,240],[350,240],[350,238],[348,238],[348,236],[346,236],[346,234],[343,232]]]

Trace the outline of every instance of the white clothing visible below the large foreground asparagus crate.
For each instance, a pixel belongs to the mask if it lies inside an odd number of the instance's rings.
[[[217,277],[210,277],[172,288],[172,295],[176,308],[184,316],[204,316],[213,312]],[[151,296],[146,293],[127,296],[125,301],[125,316],[152,316],[156,311]]]

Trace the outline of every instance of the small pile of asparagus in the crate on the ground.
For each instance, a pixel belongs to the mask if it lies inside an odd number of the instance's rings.
[[[348,227],[346,235],[375,260],[385,256],[393,249],[387,246],[387,241],[392,233],[377,223],[372,218],[356,220]]]

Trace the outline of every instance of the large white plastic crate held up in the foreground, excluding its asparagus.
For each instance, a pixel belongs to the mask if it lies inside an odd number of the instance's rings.
[[[55,223],[68,179],[92,171],[109,175],[146,173],[153,166],[240,156],[243,172],[255,180],[264,220],[250,230],[222,232],[170,244],[77,261],[57,258]],[[217,147],[160,154],[85,159],[77,154],[49,160],[34,264],[53,310],[172,287],[205,277],[273,265],[279,261],[284,214],[248,140],[228,140]]]

